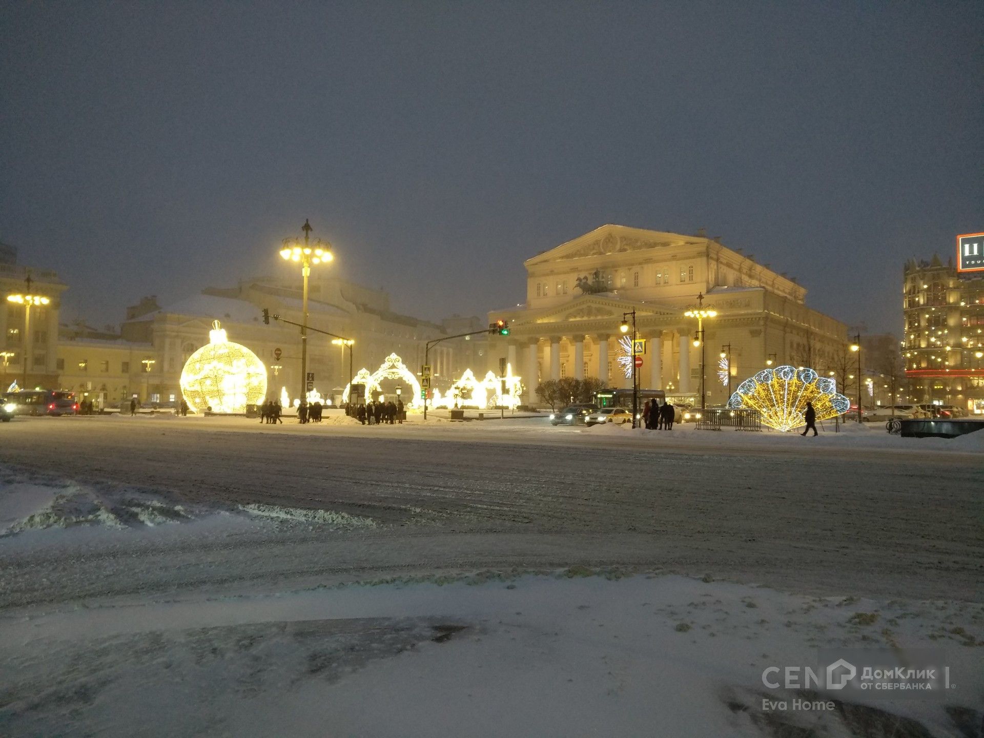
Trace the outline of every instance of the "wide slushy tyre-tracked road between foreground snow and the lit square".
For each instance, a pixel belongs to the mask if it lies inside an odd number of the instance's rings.
[[[78,535],[43,545],[33,533],[0,538],[0,608],[572,564],[809,594],[980,598],[980,453],[884,446],[884,433],[815,443],[599,430],[17,419],[0,428],[7,482],[72,480],[110,496],[138,489],[186,510],[274,506],[298,523],[162,525],[98,545]],[[329,524],[334,514],[366,524]]]

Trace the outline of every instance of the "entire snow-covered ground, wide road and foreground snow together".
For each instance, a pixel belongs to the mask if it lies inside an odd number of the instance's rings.
[[[981,719],[984,434],[149,416],[19,418],[0,440],[2,735]],[[764,691],[767,663],[941,645],[965,685],[945,705],[763,707],[799,694]]]

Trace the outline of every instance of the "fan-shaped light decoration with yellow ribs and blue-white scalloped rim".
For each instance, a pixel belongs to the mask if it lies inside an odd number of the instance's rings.
[[[788,431],[806,423],[806,403],[813,402],[818,420],[843,414],[851,401],[837,393],[836,383],[820,377],[813,369],[779,366],[764,369],[738,385],[728,400],[728,407],[746,407],[762,413],[762,422],[771,428]]]

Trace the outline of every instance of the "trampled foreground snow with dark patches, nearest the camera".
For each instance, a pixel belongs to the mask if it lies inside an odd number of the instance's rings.
[[[957,735],[979,722],[981,605],[806,597],[579,568],[104,605],[11,620],[12,734]],[[442,584],[442,583],[445,584]],[[822,647],[943,646],[945,702],[787,692]],[[769,711],[763,700],[836,700]],[[857,698],[852,698],[857,699]],[[863,726],[863,727],[859,727]],[[962,734],[970,735],[970,732]]]

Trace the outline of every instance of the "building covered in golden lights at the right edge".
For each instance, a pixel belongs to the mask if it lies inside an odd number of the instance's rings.
[[[905,264],[902,345],[910,396],[984,414],[984,274],[939,256]]]

